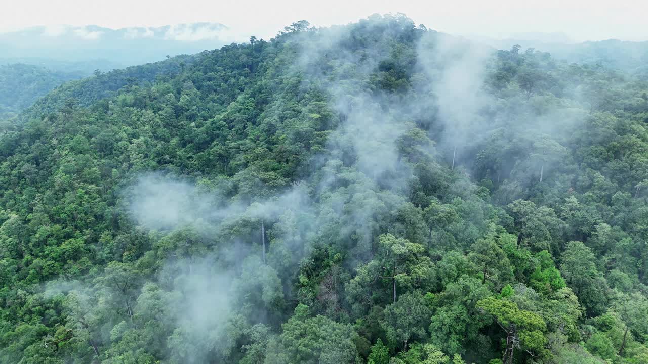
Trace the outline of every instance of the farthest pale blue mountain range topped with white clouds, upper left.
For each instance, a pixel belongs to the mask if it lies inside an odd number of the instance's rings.
[[[167,55],[216,49],[226,43],[229,43],[227,27],[218,23],[116,30],[96,25],[33,27],[0,34],[0,60],[45,58],[87,62],[100,59],[128,66],[156,62]]]

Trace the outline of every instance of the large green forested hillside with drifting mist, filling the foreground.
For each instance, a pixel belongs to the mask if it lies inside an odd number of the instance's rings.
[[[1,363],[648,363],[645,81],[404,16],[165,62],[0,136]]]

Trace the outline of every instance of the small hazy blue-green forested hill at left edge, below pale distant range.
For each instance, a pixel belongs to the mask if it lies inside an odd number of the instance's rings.
[[[0,119],[15,116],[54,87],[83,76],[23,63],[0,65]]]

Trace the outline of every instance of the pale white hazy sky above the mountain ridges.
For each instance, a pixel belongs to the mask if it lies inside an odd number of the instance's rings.
[[[34,25],[160,26],[222,23],[270,38],[293,21],[345,24],[373,13],[402,12],[452,34],[505,38],[519,32],[564,32],[573,40],[648,40],[643,0],[0,0],[0,31]]]

